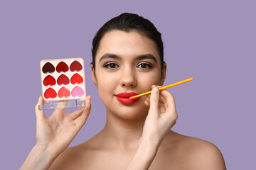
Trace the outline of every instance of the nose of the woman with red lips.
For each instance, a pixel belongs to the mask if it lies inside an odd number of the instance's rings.
[[[120,85],[126,87],[137,86],[136,74],[132,69],[123,69],[120,75]]]

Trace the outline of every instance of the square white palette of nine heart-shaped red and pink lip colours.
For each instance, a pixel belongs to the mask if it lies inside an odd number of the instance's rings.
[[[41,85],[45,101],[84,100],[85,70],[82,58],[42,60]]]

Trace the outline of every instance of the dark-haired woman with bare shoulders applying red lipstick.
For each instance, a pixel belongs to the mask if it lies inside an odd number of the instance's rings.
[[[170,129],[178,115],[164,84],[161,33],[145,18],[122,13],[105,23],[92,42],[92,80],[106,106],[105,128],[75,147],[70,142],[85,124],[86,107],[67,114],[56,109],[46,118],[36,105],[36,146],[20,169],[225,169],[210,142]],[[139,99],[130,96],[152,90]]]

